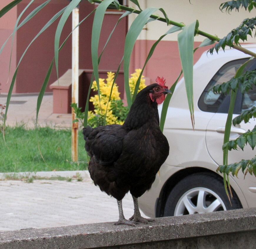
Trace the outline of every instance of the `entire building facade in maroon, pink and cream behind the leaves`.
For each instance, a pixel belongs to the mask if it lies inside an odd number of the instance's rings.
[[[217,35],[222,38],[226,36],[232,28],[239,26],[245,18],[255,16],[255,10],[251,13],[241,9],[238,12],[232,11],[231,14],[221,12],[219,9],[223,0],[139,0],[142,9],[147,7],[163,8],[168,17],[176,22],[190,24],[196,19],[199,20],[199,29]],[[0,9],[9,4],[11,0],[1,0]],[[23,9],[29,3],[29,0],[23,0],[15,6],[6,15],[0,18],[0,45],[4,44],[6,39],[12,34],[15,22]],[[21,18],[29,14],[33,9],[42,4],[44,0],[35,0],[25,11]],[[39,11],[26,25],[19,28],[14,36],[13,46],[12,38],[7,42],[4,50],[0,55],[0,83],[1,92],[6,93],[9,90],[10,82],[13,73],[19,63],[19,60],[29,45],[30,41],[36,36],[40,29],[49,19],[54,16],[59,10],[67,6],[68,0],[52,0],[42,10]],[[122,1],[122,4],[127,4],[130,7],[135,7],[130,1]],[[81,1],[79,5],[80,20],[86,17],[97,4],[90,4],[88,1]],[[115,23],[119,19],[119,11],[109,9],[106,12],[102,26],[102,33],[99,43],[99,51],[102,50],[109,33],[112,31]],[[163,16],[160,11],[157,11],[159,16]],[[136,14],[130,14],[127,18],[118,24],[105,53],[102,56],[99,69],[106,71],[116,71],[119,62],[121,61],[124,49],[124,40],[127,30],[136,18]],[[44,33],[42,33],[29,47],[26,55],[19,65],[16,83],[13,93],[39,92],[44,81],[46,72],[49,68],[51,60],[54,58],[54,37],[59,19],[53,23]],[[19,22],[20,23],[20,22]],[[91,59],[91,32],[92,32],[93,15],[88,17],[79,27],[79,68],[85,70],[92,69]],[[162,36],[170,26],[160,21],[152,21],[148,23],[142,30],[137,39],[132,53],[130,72],[134,72],[137,68],[142,68],[148,52],[155,41]],[[71,16],[64,25],[60,44],[71,32]],[[195,47],[205,39],[203,36],[195,37]],[[59,53],[59,77],[71,68],[71,37],[67,40],[64,48]],[[248,39],[248,43],[252,43],[252,38]],[[196,51],[194,62],[198,60],[203,51],[210,48],[204,47]],[[10,55],[11,62],[10,62]],[[209,55],[210,56],[210,55]],[[10,65],[10,67],[9,67]],[[10,69],[10,70],[9,70]],[[121,68],[122,72],[123,68]],[[177,32],[169,34],[159,42],[157,48],[149,60],[143,75],[147,78],[147,84],[154,83],[157,76],[166,78],[168,85],[172,85],[181,71],[181,63],[179,60],[179,51],[177,45]],[[56,81],[56,70],[53,69],[49,80],[46,92],[50,92],[49,85]],[[123,82],[119,83],[123,94]]]

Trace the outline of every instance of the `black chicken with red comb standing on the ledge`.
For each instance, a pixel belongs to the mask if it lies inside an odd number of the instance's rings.
[[[91,158],[90,176],[101,191],[117,199],[119,220],[115,225],[154,221],[141,216],[137,198],[151,188],[169,154],[169,144],[159,128],[157,105],[171,92],[164,78],[157,77],[156,82],[137,94],[123,125],[83,129],[85,149]],[[126,220],[122,199],[129,191],[134,215]]]

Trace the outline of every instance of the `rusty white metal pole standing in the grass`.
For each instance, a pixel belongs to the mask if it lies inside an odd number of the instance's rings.
[[[79,8],[76,7],[72,11],[72,30],[79,23]],[[79,28],[77,27],[72,33],[72,103],[78,105],[78,83],[79,83]],[[76,119],[74,108],[72,108],[72,161],[78,161],[78,122]]]

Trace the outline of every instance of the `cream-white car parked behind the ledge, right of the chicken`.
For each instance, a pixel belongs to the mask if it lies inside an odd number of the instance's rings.
[[[256,45],[245,45],[256,53]],[[192,129],[184,79],[176,86],[170,101],[164,135],[170,152],[156,176],[151,190],[139,198],[139,207],[149,217],[177,216],[206,213],[256,206],[256,178],[240,172],[230,176],[232,206],[225,193],[222,174],[216,169],[222,165],[222,145],[229,108],[230,95],[215,95],[211,86],[227,82],[250,56],[235,49],[225,49],[218,54],[203,53],[194,65],[195,130]],[[252,60],[250,68],[256,69]],[[256,105],[256,87],[242,95],[237,93],[233,118]],[[161,114],[161,106],[159,107]],[[236,139],[255,120],[232,126],[230,139]],[[228,163],[252,159],[255,152],[250,146],[228,152]]]

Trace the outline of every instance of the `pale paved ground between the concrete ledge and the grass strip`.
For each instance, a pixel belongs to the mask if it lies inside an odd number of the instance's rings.
[[[117,201],[94,186],[88,171],[37,172],[36,176],[72,177],[77,172],[83,181],[34,180],[26,183],[1,180],[0,231],[99,222],[114,224],[118,220]],[[123,199],[123,210],[127,219],[132,216],[130,194]]]

